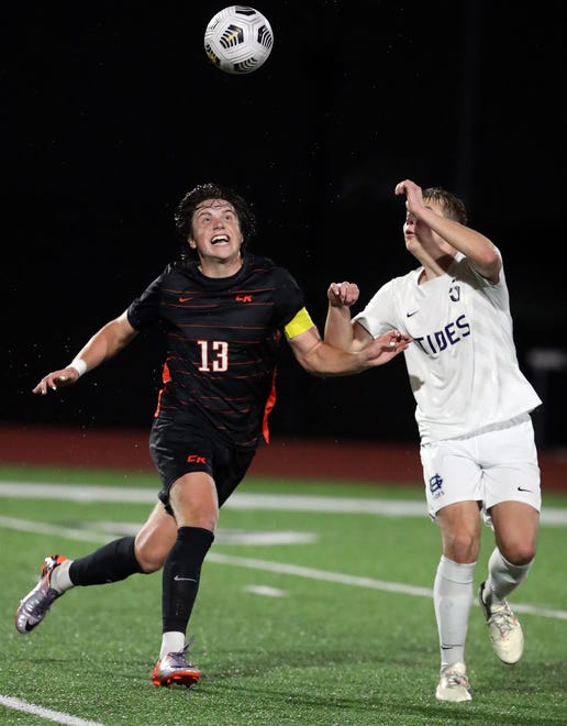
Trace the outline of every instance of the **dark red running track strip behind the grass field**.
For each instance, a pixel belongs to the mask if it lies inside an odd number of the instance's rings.
[[[148,431],[0,425],[0,463],[154,471]],[[567,452],[541,452],[544,491],[567,492]],[[274,439],[252,474],[421,486],[418,444]]]

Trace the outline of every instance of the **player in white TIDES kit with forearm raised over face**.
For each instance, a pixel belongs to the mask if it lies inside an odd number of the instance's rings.
[[[523,634],[507,597],[536,552],[540,468],[531,411],[541,405],[515,352],[499,250],[467,227],[463,201],[407,179],[403,235],[420,266],[382,285],[351,320],[352,283],[332,283],[325,341],[360,351],[387,330],[413,339],[404,351],[429,513],[442,556],[433,600],[441,648],[440,701],[470,701],[465,640],[480,550],[480,514],[496,547],[479,587],[494,653],[522,656]],[[480,514],[479,514],[480,513]]]

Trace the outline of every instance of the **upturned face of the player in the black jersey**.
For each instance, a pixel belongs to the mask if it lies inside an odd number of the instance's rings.
[[[205,199],[193,211],[189,245],[201,257],[238,256],[242,232],[234,207],[225,199]]]

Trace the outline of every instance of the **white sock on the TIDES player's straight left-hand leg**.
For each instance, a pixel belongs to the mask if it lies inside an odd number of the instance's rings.
[[[476,562],[458,564],[441,557],[433,585],[433,605],[442,668],[465,662],[465,640],[472,606],[472,575],[476,565]]]

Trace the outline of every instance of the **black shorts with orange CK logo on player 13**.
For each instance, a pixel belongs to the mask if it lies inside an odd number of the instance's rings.
[[[149,435],[149,453],[163,484],[159,499],[173,514],[169,488],[180,476],[190,472],[210,474],[222,506],[244,479],[256,450],[231,449],[203,427],[157,418]]]

